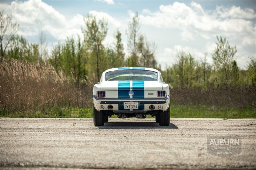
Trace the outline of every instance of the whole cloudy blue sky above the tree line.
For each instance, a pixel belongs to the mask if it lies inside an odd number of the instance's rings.
[[[83,16],[87,13],[108,20],[104,44],[113,47],[119,29],[127,52],[125,30],[138,12],[141,33],[157,44],[156,59],[164,68],[176,62],[179,51],[189,52],[198,60],[215,47],[216,35],[227,37],[237,46],[238,66],[245,68],[249,57],[256,57],[256,1],[5,1],[0,8],[12,14],[20,24],[19,34],[30,42],[38,41],[42,30],[48,50],[66,37],[82,35]]]

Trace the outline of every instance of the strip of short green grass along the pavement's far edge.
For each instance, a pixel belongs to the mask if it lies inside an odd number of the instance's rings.
[[[44,111],[26,111],[11,113],[0,109],[0,117],[50,117],[50,118],[92,118],[92,108],[55,107]],[[171,105],[171,118],[256,118],[256,107],[243,108],[209,107],[197,105]],[[111,118],[116,118],[116,115]],[[152,118],[150,115],[147,118]]]

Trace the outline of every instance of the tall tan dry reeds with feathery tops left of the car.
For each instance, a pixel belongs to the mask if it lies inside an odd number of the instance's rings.
[[[52,107],[91,107],[91,83],[77,86],[48,63],[0,59],[0,109],[44,111]]]

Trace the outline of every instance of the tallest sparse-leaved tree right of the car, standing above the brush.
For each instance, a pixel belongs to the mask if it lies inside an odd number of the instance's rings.
[[[226,38],[222,39],[221,36],[220,38],[217,36],[217,40],[217,47],[212,54],[213,63],[217,70],[224,72],[225,80],[228,82],[237,49],[236,46],[230,46]]]

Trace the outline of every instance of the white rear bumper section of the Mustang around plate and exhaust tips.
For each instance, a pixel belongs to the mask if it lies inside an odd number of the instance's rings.
[[[139,103],[139,109],[138,110],[127,110],[124,109],[124,102],[138,102]],[[112,105],[113,109],[112,111],[120,111],[120,112],[125,112],[128,111],[129,113],[131,112],[141,112],[141,111],[159,111],[163,110],[166,111],[169,107],[170,104],[170,95],[167,95],[166,98],[164,99],[154,99],[154,98],[149,98],[149,99],[135,99],[135,98],[127,98],[127,99],[99,99],[96,96],[93,96],[93,104],[96,110],[108,110],[108,105]],[[104,109],[100,109],[100,106],[104,106]],[[154,105],[155,109],[150,110],[149,106]],[[162,106],[162,109],[158,109],[158,106]]]

